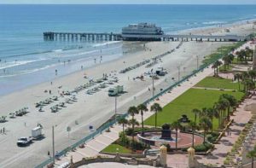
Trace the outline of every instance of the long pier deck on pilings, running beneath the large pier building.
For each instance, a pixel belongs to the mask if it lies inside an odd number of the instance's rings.
[[[45,41],[207,41],[207,42],[240,42],[247,41],[246,36],[237,35],[137,35],[121,33],[92,32],[44,32]]]

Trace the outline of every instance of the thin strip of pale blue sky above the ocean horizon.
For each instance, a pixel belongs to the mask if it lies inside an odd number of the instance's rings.
[[[45,4],[256,4],[256,0],[0,0],[0,3]]]

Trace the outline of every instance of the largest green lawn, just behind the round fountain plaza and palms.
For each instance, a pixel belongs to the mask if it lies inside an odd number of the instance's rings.
[[[214,82],[212,82],[213,84]],[[201,90],[189,89],[183,95],[163,107],[162,112],[158,113],[158,126],[165,123],[172,123],[186,114],[189,119],[194,119],[192,109],[203,107],[212,107],[214,102],[218,101],[218,97],[222,94],[230,94],[240,100],[244,95],[241,92],[221,91],[221,90]],[[154,125],[154,115],[145,121],[145,125]],[[213,120],[213,128],[218,128],[218,119]]]

